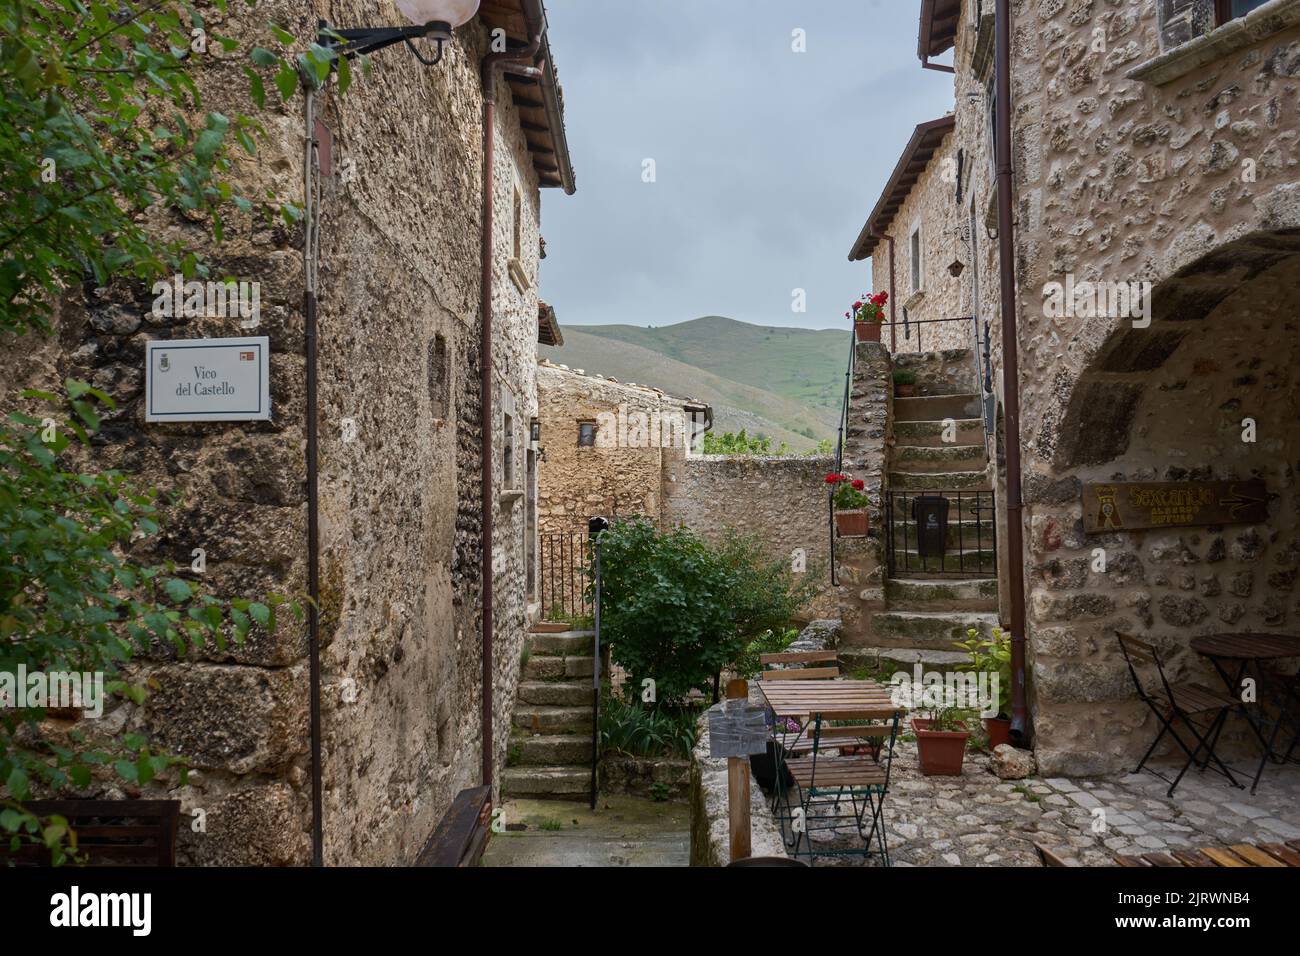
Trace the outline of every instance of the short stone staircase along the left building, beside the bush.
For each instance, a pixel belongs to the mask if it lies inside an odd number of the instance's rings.
[[[592,786],[592,631],[529,633],[502,791],[584,800]]]

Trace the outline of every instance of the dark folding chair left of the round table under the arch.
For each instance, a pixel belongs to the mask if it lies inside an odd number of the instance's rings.
[[[1128,665],[1128,674],[1134,679],[1134,687],[1138,689],[1138,696],[1150,708],[1150,711],[1156,714],[1156,719],[1160,721],[1160,734],[1152,741],[1152,745],[1147,749],[1147,753],[1139,761],[1138,767],[1134,773],[1141,773],[1143,767],[1147,766],[1147,761],[1156,752],[1160,741],[1165,739],[1169,734],[1174,737],[1178,745],[1182,748],[1183,753],[1187,754],[1187,762],[1183,763],[1183,769],[1178,771],[1178,777],[1169,783],[1169,796],[1174,796],[1174,788],[1178,787],[1179,782],[1183,779],[1183,774],[1187,769],[1196,763],[1201,770],[1205,770],[1214,763],[1217,773],[1223,774],[1228,783],[1239,790],[1243,788],[1236,778],[1232,777],[1232,771],[1227,769],[1227,765],[1218,758],[1214,753],[1214,747],[1218,743],[1219,731],[1223,730],[1223,722],[1227,719],[1228,711],[1238,706],[1239,701],[1232,700],[1227,695],[1219,693],[1218,691],[1212,691],[1201,684],[1170,684],[1169,678],[1165,676],[1165,667],[1160,661],[1160,652],[1147,641],[1138,640],[1126,633],[1115,632],[1119,639],[1119,650],[1124,656],[1124,663]],[[1144,682],[1141,675],[1138,674],[1138,666],[1150,666],[1156,669],[1156,674],[1160,676],[1160,685],[1156,687],[1154,682]],[[1199,726],[1197,721],[1209,721],[1205,726]],[[1174,722],[1178,721],[1183,724],[1188,734],[1196,740],[1196,749],[1193,750],[1182,735],[1174,727]],[[1201,756],[1204,753],[1204,757]],[[1169,778],[1154,770],[1147,769],[1148,773],[1154,774],[1162,780],[1169,782]]]

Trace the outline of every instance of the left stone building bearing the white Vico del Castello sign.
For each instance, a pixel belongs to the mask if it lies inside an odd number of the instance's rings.
[[[313,36],[326,14],[339,27],[403,22],[390,0],[204,12],[211,27],[243,42],[239,56],[268,43],[270,21]],[[454,795],[482,782],[482,64],[494,30],[512,51],[541,36],[529,57],[534,75],[486,72],[495,94],[489,692],[497,732],[488,761],[495,780],[536,557],[524,459],[537,414],[536,347],[547,328],[537,298],[540,190],[573,190],[545,10],[540,0],[485,3],[437,66],[390,47],[373,55],[368,75],[356,72],[344,96],[315,98],[333,142],[313,209],[326,864],[412,862]],[[196,68],[209,108],[246,109],[230,79],[238,72],[220,52]],[[239,161],[235,179],[247,195],[269,196],[272,209],[303,204],[303,94],[269,105],[264,122],[266,140]],[[316,137],[326,133],[317,127]],[[255,328],[160,319],[148,289],[120,284],[69,295],[57,336],[35,355],[6,356],[3,369],[6,389],[75,376],[117,399],[95,463],[183,496],[142,557],[183,568],[202,548],[199,580],[225,597],[307,592],[304,234],[300,224],[266,225],[261,213],[229,221],[225,242],[207,248],[214,274],[260,282]],[[269,337],[270,421],[146,424],[147,341],[247,334]],[[185,814],[203,812],[202,831],[181,827],[181,860],[309,862],[306,628],[282,615],[274,635],[255,631],[224,652],[178,661],[156,650],[134,676],[152,684],[151,695],[139,708],[121,704],[108,726],[143,730],[194,767],[188,787],[142,790],[179,799]]]

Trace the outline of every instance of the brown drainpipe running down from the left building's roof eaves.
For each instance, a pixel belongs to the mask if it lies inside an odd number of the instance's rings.
[[[497,68],[507,68],[514,73],[524,75],[541,75],[542,72],[534,66],[517,65],[530,61],[542,46],[540,29],[529,25],[533,39],[521,51],[514,53],[488,53],[482,61],[482,88],[484,88],[484,182],[482,182],[482,252],[481,252],[481,291],[482,299],[482,333],[480,338],[480,388],[482,390],[482,457],[480,467],[482,470],[482,779],[484,786],[490,787],[493,782],[493,481],[491,481],[491,432],[493,432],[493,403],[491,403],[491,293],[493,293],[493,190],[495,177],[493,176],[497,159]],[[510,66],[510,64],[516,64]]]

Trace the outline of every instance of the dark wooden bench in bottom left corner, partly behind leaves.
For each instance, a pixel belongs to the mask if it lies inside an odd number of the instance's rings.
[[[42,819],[66,819],[86,866],[176,866],[179,800],[30,800],[23,808]],[[48,866],[49,851],[25,843],[10,852],[4,840],[0,864]]]

